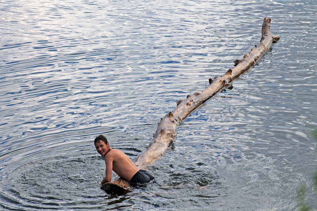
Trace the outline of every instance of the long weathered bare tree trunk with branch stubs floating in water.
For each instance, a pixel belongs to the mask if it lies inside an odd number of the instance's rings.
[[[177,107],[165,115],[159,122],[156,132],[153,134],[154,140],[147,146],[146,151],[140,154],[134,164],[142,168],[142,166],[153,162],[168,149],[176,138],[178,125],[190,115],[195,109],[206,102],[217,92],[228,86],[233,80],[238,78],[244,72],[252,68],[258,59],[260,59],[272,45],[280,39],[280,36],[275,36],[270,31],[270,18],[264,18],[262,24],[262,38],[260,44],[255,46],[250,53],[243,56],[241,60],[235,60],[236,67],[229,69],[222,76],[217,76],[213,79],[209,78],[209,86],[202,92],[196,92],[193,95],[188,95],[186,99],[177,101]],[[121,186],[121,187],[120,187]],[[122,193],[129,187],[129,182],[123,178],[116,181],[105,183],[101,189],[112,193]]]

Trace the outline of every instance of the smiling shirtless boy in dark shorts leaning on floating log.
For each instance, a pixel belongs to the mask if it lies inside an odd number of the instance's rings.
[[[151,173],[136,167],[125,153],[118,149],[111,149],[105,136],[99,135],[95,138],[95,147],[100,155],[105,156],[106,176],[101,184],[111,181],[112,171],[130,183],[147,183],[154,179]]]

